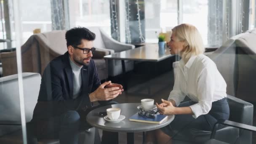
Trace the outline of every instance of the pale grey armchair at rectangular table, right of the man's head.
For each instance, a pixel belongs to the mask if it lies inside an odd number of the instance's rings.
[[[88,27],[92,32],[96,34],[96,39],[94,40],[94,46],[97,49],[107,50],[110,54],[120,51],[127,51],[135,48],[134,45],[120,43],[117,40],[109,37],[101,28],[99,27]],[[108,75],[116,76],[120,75],[122,71],[121,60],[107,60],[108,65]],[[133,61],[125,60],[126,71],[131,71],[133,69]]]

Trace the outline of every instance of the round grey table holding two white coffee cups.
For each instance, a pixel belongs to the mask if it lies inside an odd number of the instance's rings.
[[[99,107],[89,112],[86,117],[86,120],[91,126],[102,129],[104,131],[126,132],[127,143],[133,144],[135,132],[152,131],[155,129],[163,128],[164,126],[170,124],[174,119],[174,115],[169,115],[167,120],[165,120],[161,124],[140,123],[140,122],[129,121],[129,118],[139,111],[139,109],[137,109],[139,105],[140,103],[124,103],[124,104],[112,104],[104,107]],[[105,112],[106,109],[111,107],[120,108],[122,115],[125,116],[125,119],[118,123],[110,123],[104,120],[103,117],[98,115],[99,112]]]

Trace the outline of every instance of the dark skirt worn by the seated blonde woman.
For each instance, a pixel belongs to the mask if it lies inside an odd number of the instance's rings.
[[[196,104],[194,101],[186,101],[179,105],[179,107],[188,107]],[[189,138],[189,130],[197,129],[201,131],[211,131],[214,124],[218,120],[229,119],[229,105],[227,98],[212,103],[211,110],[206,115],[200,115],[196,119],[192,115],[176,115],[174,120],[161,130],[172,137],[172,139],[184,139],[184,136]],[[193,133],[195,134],[195,133]],[[179,138],[182,136],[182,138]]]

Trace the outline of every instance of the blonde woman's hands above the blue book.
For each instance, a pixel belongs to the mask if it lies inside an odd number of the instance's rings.
[[[173,106],[173,104],[171,103],[171,101],[165,101],[164,99],[162,99],[161,104],[157,104],[157,109],[159,109],[159,113],[162,115],[175,115],[175,109],[176,107]]]

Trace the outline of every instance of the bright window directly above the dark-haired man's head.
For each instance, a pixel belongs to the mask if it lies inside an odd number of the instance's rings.
[[[101,27],[110,35],[109,0],[69,0],[70,27]]]

